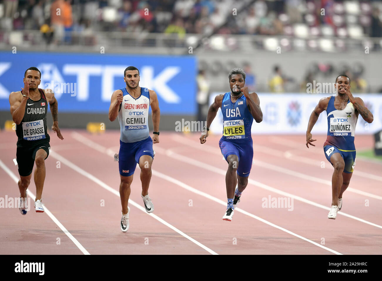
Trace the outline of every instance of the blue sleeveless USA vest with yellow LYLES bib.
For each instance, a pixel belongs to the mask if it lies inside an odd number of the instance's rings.
[[[231,101],[231,92],[225,93],[221,109],[223,114],[223,139],[235,143],[251,141],[253,116],[248,110],[246,97],[242,95],[233,103]]]

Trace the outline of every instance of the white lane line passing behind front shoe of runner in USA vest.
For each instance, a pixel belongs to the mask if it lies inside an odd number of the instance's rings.
[[[87,146],[89,146],[89,147],[92,148],[92,146],[91,146],[90,144],[88,145],[89,142],[87,141],[87,138],[85,138],[85,137],[82,136],[81,134],[78,134],[78,133],[72,133],[72,136],[73,136],[73,138],[75,138],[76,140],[78,140],[78,141],[80,141],[81,143],[83,143],[83,144],[85,144],[85,145],[87,145]],[[102,148],[104,148],[104,147],[102,146]],[[105,148],[104,148],[104,149],[100,149],[100,151],[101,151],[101,150],[103,150],[105,154],[108,154],[108,153],[106,153],[106,149],[105,149]],[[157,151],[163,151],[164,149],[157,147],[157,148],[155,148],[155,150],[157,150]],[[110,154],[109,154],[109,155],[110,155]],[[111,156],[111,155],[110,155],[110,156]],[[162,179],[165,179],[165,180],[167,180],[167,181],[169,181],[169,182],[172,182],[172,183],[174,183],[174,184],[176,184],[176,185],[178,185],[178,186],[180,186],[180,187],[182,187],[182,188],[185,188],[186,190],[189,190],[189,191],[191,191],[191,192],[193,192],[193,193],[196,193],[196,194],[198,194],[198,195],[201,195],[201,196],[203,196],[203,197],[206,197],[206,198],[208,198],[208,199],[210,199],[210,200],[212,200],[212,201],[215,201],[215,202],[219,203],[220,205],[223,205],[223,206],[225,206],[225,207],[227,206],[227,203],[226,203],[225,201],[222,201],[222,200],[220,200],[219,198],[216,198],[216,197],[214,197],[214,196],[212,196],[212,195],[209,195],[208,193],[205,193],[205,192],[202,192],[202,191],[200,191],[200,190],[198,190],[198,189],[196,189],[196,188],[193,188],[193,187],[191,187],[191,186],[189,186],[189,185],[187,185],[187,184],[181,182],[180,180],[174,179],[173,177],[170,177],[170,176],[168,176],[168,175],[162,174],[162,173],[160,173],[160,172],[158,172],[158,171],[155,171],[155,170],[151,170],[151,171],[152,171],[152,174],[153,174],[153,175],[156,175],[156,176],[158,176],[158,177],[160,177],[160,178],[162,178]],[[224,172],[224,175],[225,175],[225,172]],[[142,209],[143,209],[143,208],[142,208]],[[314,242],[314,241],[312,241],[312,240],[309,240],[309,239],[307,239],[307,238],[305,238],[305,237],[303,237],[303,236],[300,236],[300,235],[298,235],[298,234],[296,234],[296,233],[294,233],[294,232],[291,232],[291,231],[289,231],[288,229],[285,229],[285,228],[283,228],[283,227],[281,227],[281,226],[278,226],[278,225],[276,225],[276,224],[274,224],[274,223],[271,223],[271,222],[269,222],[269,221],[267,221],[267,220],[265,220],[265,219],[262,219],[262,218],[260,218],[260,217],[258,217],[258,216],[256,216],[256,215],[254,215],[254,214],[248,213],[247,211],[244,211],[244,210],[242,210],[242,209],[240,209],[240,208],[235,208],[235,210],[238,211],[239,213],[246,214],[247,216],[250,216],[250,217],[252,217],[252,218],[254,218],[254,219],[257,219],[257,220],[259,220],[259,221],[261,221],[261,222],[263,222],[263,223],[265,223],[265,224],[268,224],[269,226],[275,227],[275,228],[277,228],[277,229],[280,229],[281,231],[284,231],[284,232],[286,232],[286,233],[288,233],[288,234],[291,234],[291,235],[296,236],[296,237],[298,237],[298,238],[300,238],[300,239],[303,239],[303,240],[305,240],[305,241],[307,241],[307,242],[309,242],[309,243],[311,243],[311,244],[313,244],[313,245],[316,245],[316,246],[318,246],[318,247],[320,247],[320,248],[322,248],[322,249],[325,249],[325,250],[327,250],[327,251],[329,251],[329,252],[335,253],[336,255],[342,255],[342,253],[339,253],[339,252],[337,252],[337,251],[335,251],[335,250],[332,250],[332,249],[330,249],[330,248],[328,248],[328,247],[322,246],[322,245],[320,245],[320,244],[318,244],[318,243],[316,243],[316,242]],[[329,210],[329,208],[328,208],[328,210]]]

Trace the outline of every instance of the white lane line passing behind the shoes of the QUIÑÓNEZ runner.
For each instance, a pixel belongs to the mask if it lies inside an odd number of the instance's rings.
[[[185,141],[183,140],[182,141],[183,145],[189,145],[189,146],[193,146],[191,144],[189,144],[189,141]],[[205,144],[203,144],[205,145]],[[202,145],[201,145],[202,146]],[[197,146],[193,146],[193,147],[196,147]],[[209,150],[208,151],[212,151],[214,148],[209,146]],[[160,151],[158,151],[160,152]],[[225,175],[227,173],[227,171],[225,170],[222,170],[218,167],[215,167],[215,166],[211,166],[209,164],[206,164],[206,163],[203,163],[203,162],[200,162],[200,161],[197,161],[195,159],[192,159],[192,158],[188,158],[187,156],[184,156],[184,155],[181,155],[181,154],[178,154],[178,153],[175,153],[173,151],[171,151],[170,149],[167,149],[166,150],[166,155],[167,156],[170,156],[174,159],[177,159],[179,161],[182,161],[182,162],[185,162],[185,163],[188,163],[188,164],[191,164],[191,165],[194,165],[196,167],[199,167],[199,168],[203,168],[203,169],[207,169],[209,171],[212,171],[212,172],[215,172],[217,174],[221,174],[221,175]],[[275,192],[275,193],[278,193],[278,194],[281,194],[281,195],[284,195],[284,196],[287,196],[287,197],[291,197],[291,198],[294,198],[298,201],[301,201],[301,202],[304,202],[304,203],[307,203],[309,205],[312,205],[312,206],[316,206],[318,208],[321,208],[321,209],[324,209],[324,210],[330,210],[329,207],[327,206],[324,206],[324,205],[321,205],[319,203],[316,203],[314,201],[310,201],[308,199],[305,199],[303,197],[299,197],[297,195],[293,195],[291,193],[287,193],[287,192],[283,192],[282,190],[278,190],[277,188],[274,188],[274,187],[270,187],[269,185],[265,185],[265,184],[262,184],[261,182],[258,182],[256,180],[253,180],[253,179],[248,179],[248,183],[250,184],[253,184],[253,185],[256,185],[257,187],[260,187],[260,188],[263,188],[265,190],[269,190],[269,191],[272,191],[272,192]],[[343,211],[339,211],[337,214],[341,214],[342,216],[346,216],[348,218],[351,218],[351,219],[355,219],[357,221],[360,221],[362,223],[366,223],[366,224],[369,224],[371,226],[375,226],[375,227],[378,227],[378,228],[381,228],[382,229],[382,226],[378,225],[378,224],[375,224],[375,223],[371,223],[369,221],[366,221],[364,219],[361,219],[361,218],[358,218],[356,216],[352,216],[350,214],[347,214],[347,213],[344,213]]]

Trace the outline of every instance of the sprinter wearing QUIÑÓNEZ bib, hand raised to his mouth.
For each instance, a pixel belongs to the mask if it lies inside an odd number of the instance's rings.
[[[334,167],[332,177],[332,208],[328,218],[337,218],[337,211],[342,208],[342,194],[348,188],[351,175],[355,166],[356,148],[354,146],[354,133],[361,114],[363,119],[371,123],[373,115],[365,107],[362,99],[353,97],[350,92],[350,79],[346,75],[336,78],[338,95],[323,97],[313,110],[306,131],[306,146],[312,144],[311,130],[321,112],[326,110],[328,119],[327,139],[324,143],[326,159]]]

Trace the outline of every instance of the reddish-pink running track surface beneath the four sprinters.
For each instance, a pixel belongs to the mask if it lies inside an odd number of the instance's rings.
[[[118,153],[119,132],[91,135],[83,130],[62,130],[62,134],[63,141],[50,132],[53,153],[45,161],[43,203],[90,254],[382,253],[382,164],[357,158],[349,185],[356,191],[344,193],[342,211],[337,219],[330,220],[327,214],[331,187],[325,181],[331,181],[333,170],[322,149],[325,136],[314,136],[318,139],[316,147],[308,149],[305,136],[254,135],[251,182],[238,205],[248,213],[235,209],[233,221],[227,222],[222,220],[225,206],[214,201],[214,198],[227,200],[224,176],[227,162],[218,146],[220,136],[211,135],[200,145],[200,134],[162,133],[160,143],[154,145],[157,154],[149,189],[155,205],[153,214],[204,245],[201,247],[132,203],[129,203],[130,228],[122,233],[119,197],[95,182],[97,178],[104,186],[119,190],[118,163],[110,156]],[[0,160],[18,177],[13,163],[15,132],[0,132],[0,139]],[[372,136],[358,135],[355,140],[358,150],[372,146]],[[88,177],[61,157],[87,172]],[[61,161],[60,168],[57,161]],[[143,206],[139,172],[137,167],[130,199]],[[95,181],[89,179],[91,175]],[[18,197],[17,184],[4,169],[0,169],[0,178],[0,197]],[[261,184],[268,189],[259,187]],[[207,195],[192,192],[192,188]],[[33,180],[29,190],[36,194]],[[293,211],[262,208],[262,198],[269,196],[295,196]],[[105,206],[101,206],[101,200]],[[369,206],[365,206],[365,200],[369,200]],[[36,213],[33,206],[26,216],[17,208],[0,211],[1,254],[34,254],[36,250],[40,254],[83,253],[46,213]],[[253,215],[317,244],[270,226]]]

